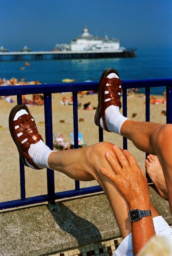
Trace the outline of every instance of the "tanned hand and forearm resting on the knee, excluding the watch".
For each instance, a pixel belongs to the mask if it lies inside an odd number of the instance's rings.
[[[129,210],[151,210],[147,179],[135,158],[129,151],[121,151],[117,146],[113,147],[113,151],[118,162],[114,160],[111,154],[106,152],[106,159],[113,170],[101,168],[101,172],[117,186],[121,195],[127,201]],[[146,216],[139,221],[131,222],[131,227],[133,253],[135,255],[155,235],[152,216]]]

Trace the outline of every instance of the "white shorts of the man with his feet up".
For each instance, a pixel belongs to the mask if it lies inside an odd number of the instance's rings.
[[[162,216],[153,218],[153,224],[157,236],[167,236],[172,241],[172,228]],[[113,256],[133,256],[132,234],[126,236],[120,243]]]

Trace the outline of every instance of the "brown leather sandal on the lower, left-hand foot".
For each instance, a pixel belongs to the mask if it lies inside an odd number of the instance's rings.
[[[25,109],[28,114],[23,114],[22,116],[18,117],[16,121],[14,121],[15,114],[21,109]],[[39,134],[34,119],[25,104],[18,104],[12,108],[9,116],[9,129],[23,164],[28,166],[28,162],[35,169],[40,169],[36,164],[34,164],[28,151],[30,145],[39,142],[42,137]],[[20,137],[17,136],[19,133],[22,134]]]

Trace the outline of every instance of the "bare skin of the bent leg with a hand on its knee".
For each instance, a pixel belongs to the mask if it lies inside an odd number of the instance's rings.
[[[82,181],[96,179],[108,197],[121,235],[124,238],[131,232],[128,205],[113,182],[100,171],[101,167],[111,169],[106,160],[105,152],[108,151],[113,154],[112,146],[113,144],[109,142],[100,142],[82,149],[52,152],[48,157],[48,165],[50,168],[61,171],[72,179]],[[151,206],[151,211],[153,217],[158,215],[153,206]]]

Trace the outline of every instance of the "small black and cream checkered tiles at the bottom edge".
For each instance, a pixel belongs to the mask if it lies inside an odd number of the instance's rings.
[[[61,252],[54,256],[112,256],[121,241],[122,238],[104,241],[90,246],[82,246],[71,251]]]

